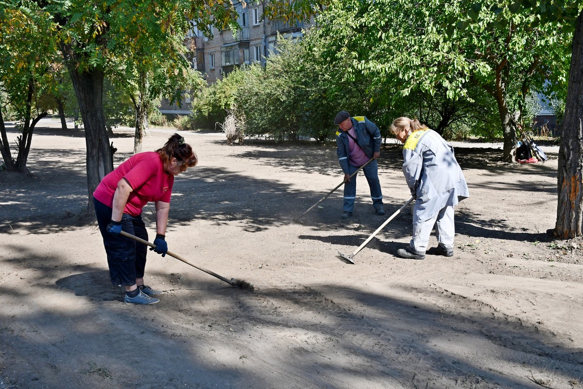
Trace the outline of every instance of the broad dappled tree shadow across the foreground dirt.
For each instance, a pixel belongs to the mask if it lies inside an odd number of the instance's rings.
[[[570,349],[556,341],[556,334],[478,299],[433,285],[391,285],[384,293],[338,283],[244,291],[192,281],[184,285],[198,284],[191,303],[183,290],[166,296],[157,309],[131,309],[112,304],[117,301],[108,293],[90,292],[110,288],[103,268],[54,268],[63,258],[26,248],[16,252],[2,262],[30,272],[33,288],[0,286],[9,297],[0,312],[5,323],[0,341],[10,378],[22,387],[53,382],[78,387],[86,377],[69,374],[64,382],[61,372],[82,372],[96,358],[117,380],[129,373],[130,380],[185,387],[283,388],[290,381],[298,387],[329,387],[330,380],[345,375],[372,387],[394,381],[403,387],[531,387],[528,372],[546,373],[567,387],[583,376],[581,349]],[[57,279],[59,289],[47,279]],[[64,293],[70,292],[89,303],[68,310],[39,304],[47,293],[65,301]],[[11,315],[15,310],[18,314]],[[147,344],[157,356],[156,369],[135,355],[135,342]],[[244,364],[217,364],[217,357],[205,351],[219,345],[226,355],[241,355]],[[491,360],[497,369],[488,368]],[[29,367],[16,369],[23,361]]]

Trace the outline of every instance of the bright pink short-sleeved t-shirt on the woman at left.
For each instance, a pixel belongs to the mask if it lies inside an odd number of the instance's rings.
[[[122,178],[128,180],[133,189],[125,204],[124,213],[138,216],[149,201],[170,202],[174,176],[164,171],[164,164],[158,153],[148,151],[129,157],[101,180],[93,197],[113,208],[113,195]]]

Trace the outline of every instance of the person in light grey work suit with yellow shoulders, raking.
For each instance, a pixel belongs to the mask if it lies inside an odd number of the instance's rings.
[[[454,255],[454,206],[469,197],[468,185],[454,156],[454,149],[437,132],[416,119],[400,117],[391,132],[403,142],[403,174],[413,206],[413,239],[401,248],[402,258],[423,260],[429,235],[436,226],[437,253]]]

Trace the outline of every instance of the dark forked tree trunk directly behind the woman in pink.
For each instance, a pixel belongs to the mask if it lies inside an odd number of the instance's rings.
[[[87,148],[87,212],[93,211],[93,192],[110,171],[110,141],[103,115],[103,71],[80,71],[75,64],[69,66],[69,75],[79,102],[79,110],[85,127]]]

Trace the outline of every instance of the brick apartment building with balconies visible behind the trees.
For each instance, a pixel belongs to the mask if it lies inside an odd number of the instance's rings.
[[[237,31],[212,31],[213,37],[203,37],[201,31],[192,24],[185,45],[188,48],[187,59],[193,69],[201,72],[206,82],[212,84],[233,71],[237,66],[261,62],[275,52],[275,40],[278,32],[285,38],[303,36],[302,30],[309,29],[314,19],[284,22],[281,19],[262,20],[264,1],[234,2],[237,10]],[[185,97],[182,107],[170,101],[161,101],[163,114],[187,115],[191,113],[190,99]]]

